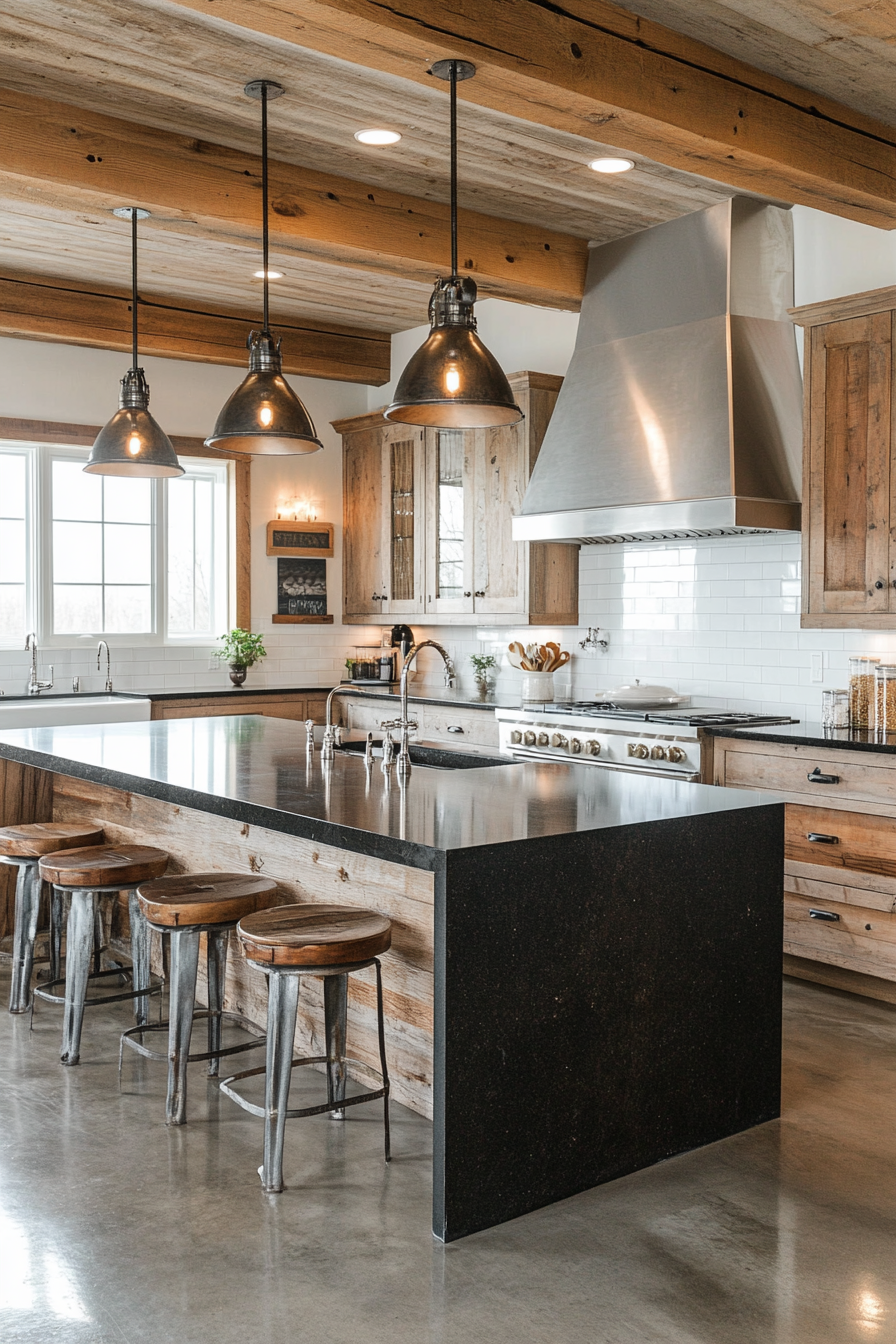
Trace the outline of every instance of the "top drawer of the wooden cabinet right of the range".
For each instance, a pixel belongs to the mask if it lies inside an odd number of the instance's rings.
[[[881,759],[892,759],[893,763],[869,763]],[[724,778],[719,782],[735,789],[818,796],[819,806],[832,798],[896,806],[896,758],[873,757],[865,751],[827,753],[798,746],[782,754],[742,751],[725,743]]]

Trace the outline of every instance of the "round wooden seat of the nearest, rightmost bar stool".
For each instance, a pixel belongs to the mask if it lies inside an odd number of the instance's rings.
[[[236,926],[250,961],[269,966],[345,966],[387,952],[392,922],[351,906],[274,906]]]

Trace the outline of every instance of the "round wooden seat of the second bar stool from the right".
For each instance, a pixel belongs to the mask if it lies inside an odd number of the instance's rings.
[[[168,929],[235,923],[243,915],[267,909],[275,895],[275,882],[251,872],[180,874],[137,887],[146,919]]]

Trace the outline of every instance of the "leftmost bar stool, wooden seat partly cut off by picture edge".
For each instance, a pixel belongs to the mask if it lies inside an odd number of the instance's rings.
[[[0,863],[19,870],[16,876],[16,906],[12,934],[12,984],[9,1012],[27,1012],[31,1001],[31,973],[34,945],[38,937],[38,911],[43,880],[39,863],[44,855],[81,845],[102,844],[98,827],[66,821],[30,821],[20,827],[0,829]],[[50,978],[56,980],[62,962],[62,895],[51,891],[50,898]]]

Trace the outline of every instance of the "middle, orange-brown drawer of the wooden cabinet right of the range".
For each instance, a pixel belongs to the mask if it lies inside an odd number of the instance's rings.
[[[785,812],[787,860],[896,878],[896,818],[794,802]]]

